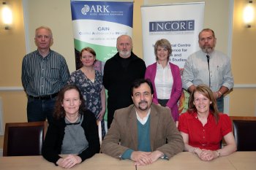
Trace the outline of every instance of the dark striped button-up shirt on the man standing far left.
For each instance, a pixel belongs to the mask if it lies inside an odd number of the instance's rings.
[[[29,96],[47,96],[58,93],[69,80],[65,58],[50,50],[43,58],[38,50],[25,55],[22,62],[21,80]]]

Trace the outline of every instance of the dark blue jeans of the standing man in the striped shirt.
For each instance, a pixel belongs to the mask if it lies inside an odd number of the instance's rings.
[[[45,121],[50,124],[53,121],[53,109],[56,98],[39,100],[28,97],[27,117],[29,122]]]

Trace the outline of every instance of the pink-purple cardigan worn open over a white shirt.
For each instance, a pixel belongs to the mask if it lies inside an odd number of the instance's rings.
[[[173,74],[173,88],[170,93],[170,99],[167,102],[166,106],[170,108],[173,120],[178,121],[178,99],[181,97],[181,92],[182,92],[182,82],[181,82],[181,73],[178,68],[173,63],[170,63],[170,70]],[[156,85],[154,84],[154,79],[157,74],[157,62],[151,64],[150,66],[147,67],[146,73],[145,73],[145,78],[151,80],[153,88],[154,88],[154,95],[153,95],[153,102],[154,104],[158,104],[158,99],[157,99],[157,90],[156,90]]]

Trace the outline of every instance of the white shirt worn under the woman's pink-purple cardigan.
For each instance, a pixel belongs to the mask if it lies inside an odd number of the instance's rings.
[[[157,73],[154,84],[156,85],[158,99],[170,99],[170,93],[173,87],[173,74],[170,70],[169,63],[167,63],[165,68],[157,63]]]

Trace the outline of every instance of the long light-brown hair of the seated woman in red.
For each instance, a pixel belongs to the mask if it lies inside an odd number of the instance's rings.
[[[193,101],[195,100],[195,92],[198,92],[200,94],[203,94],[203,96],[206,96],[211,101],[209,109],[211,110],[211,114],[214,115],[214,119],[218,123],[219,121],[219,111],[217,107],[216,99],[214,98],[214,93],[212,93],[211,89],[208,88],[207,85],[197,85],[195,90],[191,93],[189,96],[189,109],[188,112],[197,112],[197,108],[195,107],[195,104]]]

